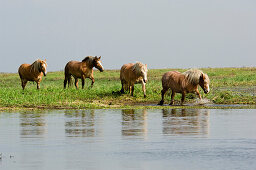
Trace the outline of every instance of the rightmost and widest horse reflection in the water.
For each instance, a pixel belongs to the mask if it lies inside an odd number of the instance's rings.
[[[163,109],[163,134],[203,135],[209,133],[209,110]]]

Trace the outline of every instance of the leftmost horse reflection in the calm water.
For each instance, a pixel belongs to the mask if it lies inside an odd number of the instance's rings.
[[[43,112],[21,112],[20,113],[20,135],[21,137],[44,137],[46,128],[45,113]]]

